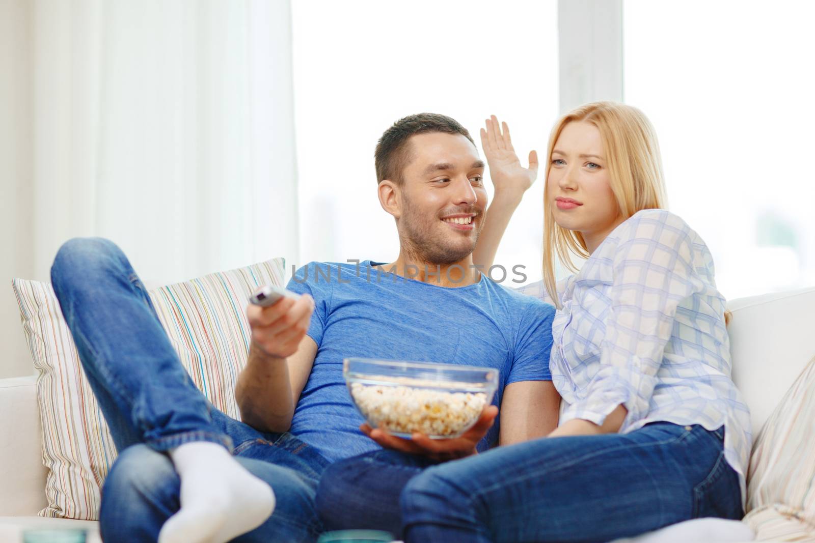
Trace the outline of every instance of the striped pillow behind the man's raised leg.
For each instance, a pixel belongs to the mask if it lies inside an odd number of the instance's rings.
[[[283,277],[284,261],[274,259],[150,291],[187,373],[233,418],[240,418],[234,389],[249,353],[247,300],[262,284],[283,286]],[[100,489],[117,457],[108,425],[51,284],[14,279],[12,287],[39,372],[42,460],[48,468],[48,506],[39,515],[97,520]]]

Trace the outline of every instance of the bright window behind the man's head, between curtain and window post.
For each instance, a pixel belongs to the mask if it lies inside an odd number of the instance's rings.
[[[395,120],[438,112],[478,144],[491,113],[518,155],[545,154],[557,117],[557,2],[292,2],[295,123],[306,261],[399,254],[380,207],[373,151]],[[491,193],[491,183],[487,183]],[[540,278],[543,176],[496,256]],[[500,278],[499,277],[496,277]],[[511,284],[511,283],[507,283]]]

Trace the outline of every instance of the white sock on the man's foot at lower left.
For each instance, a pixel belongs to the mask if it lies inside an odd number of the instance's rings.
[[[170,450],[181,479],[181,509],[161,527],[158,543],[227,543],[258,528],[275,509],[275,493],[222,445],[192,441]]]

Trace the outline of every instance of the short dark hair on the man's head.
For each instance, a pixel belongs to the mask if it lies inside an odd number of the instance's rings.
[[[461,134],[475,145],[469,132],[460,123],[446,115],[438,113],[417,113],[397,120],[385,130],[377,142],[374,152],[374,163],[377,166],[377,183],[385,179],[401,183],[402,170],[410,161],[407,140],[416,134],[441,132],[443,134]]]

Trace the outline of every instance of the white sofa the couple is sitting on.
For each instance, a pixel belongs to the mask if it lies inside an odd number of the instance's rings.
[[[815,288],[734,300],[730,349],[734,380],[752,412],[753,433],[815,357]],[[99,541],[97,523],[43,519],[46,471],[33,377],[0,379],[0,543],[19,543],[20,530],[86,528]],[[700,542],[703,543],[703,542]]]

